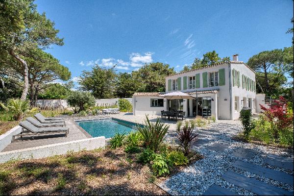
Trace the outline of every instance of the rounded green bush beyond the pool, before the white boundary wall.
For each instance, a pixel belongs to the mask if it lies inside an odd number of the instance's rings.
[[[68,103],[73,107],[78,107],[78,111],[86,110],[95,105],[95,98],[89,92],[73,91],[67,97]]]

